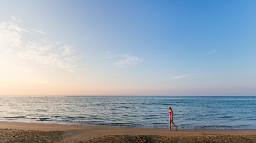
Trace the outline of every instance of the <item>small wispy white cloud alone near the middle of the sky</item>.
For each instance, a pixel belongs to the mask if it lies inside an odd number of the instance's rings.
[[[117,68],[135,66],[141,61],[142,58],[137,56],[130,56],[130,54],[112,54],[112,52],[105,53],[106,58],[118,58],[118,61],[114,62],[114,66]]]

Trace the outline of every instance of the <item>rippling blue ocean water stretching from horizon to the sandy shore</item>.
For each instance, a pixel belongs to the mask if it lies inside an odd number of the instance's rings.
[[[0,120],[183,129],[256,129],[256,97],[0,96]]]

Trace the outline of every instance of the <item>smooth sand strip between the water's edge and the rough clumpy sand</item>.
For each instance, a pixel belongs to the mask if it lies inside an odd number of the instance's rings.
[[[106,140],[107,138],[121,138],[130,139],[131,137],[144,137],[150,138],[155,137],[157,140],[163,139],[163,137],[173,137],[173,138],[187,138],[197,139],[205,137],[227,137],[227,138],[237,138],[248,139],[256,141],[256,130],[254,129],[178,129],[175,131],[169,131],[168,128],[137,128],[137,127],[119,127],[119,126],[89,126],[89,125],[70,125],[70,124],[40,124],[40,123],[27,123],[27,122],[13,122],[13,121],[0,121],[1,132],[11,132],[16,134],[17,132],[37,132],[37,131],[59,131],[56,134],[61,134],[60,141],[57,142],[101,142],[101,140]],[[8,129],[8,130],[7,130]],[[26,134],[26,133],[25,133]],[[40,133],[38,133],[40,134]],[[15,135],[13,135],[15,136]],[[38,135],[40,137],[40,135]],[[159,139],[158,139],[159,137]],[[196,137],[196,138],[195,138]],[[225,138],[224,137],[224,138]],[[13,138],[13,137],[12,137]],[[47,138],[47,137],[46,137]],[[49,138],[49,137],[48,137]],[[57,138],[57,136],[56,136]],[[236,139],[236,140],[239,140]],[[255,140],[254,140],[255,139]],[[8,140],[8,139],[7,139]],[[209,140],[209,139],[208,139]],[[118,141],[118,139],[117,139]],[[110,141],[111,142],[111,141]],[[124,141],[125,142],[125,141]],[[129,141],[128,141],[129,142]],[[214,141],[213,141],[214,142]],[[244,142],[241,141],[240,142]]]

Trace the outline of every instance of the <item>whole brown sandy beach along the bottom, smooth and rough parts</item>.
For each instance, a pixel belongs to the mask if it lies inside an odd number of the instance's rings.
[[[0,121],[0,143],[255,143],[256,130],[134,128]]]

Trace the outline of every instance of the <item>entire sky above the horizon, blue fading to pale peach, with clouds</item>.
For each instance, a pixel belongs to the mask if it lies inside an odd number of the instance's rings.
[[[255,0],[0,0],[0,95],[256,96]]]

